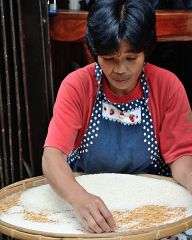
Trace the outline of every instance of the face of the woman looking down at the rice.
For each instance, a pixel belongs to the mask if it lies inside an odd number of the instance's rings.
[[[107,78],[109,88],[117,95],[125,95],[137,85],[144,58],[143,52],[133,52],[129,44],[122,42],[117,53],[99,55],[98,63]]]

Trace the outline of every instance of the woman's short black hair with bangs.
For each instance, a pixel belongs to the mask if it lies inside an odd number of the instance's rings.
[[[156,44],[155,24],[149,0],[95,0],[87,18],[87,44],[95,57],[118,52],[122,41],[148,56]]]

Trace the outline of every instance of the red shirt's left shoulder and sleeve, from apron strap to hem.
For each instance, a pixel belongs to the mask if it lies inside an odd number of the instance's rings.
[[[94,63],[70,73],[63,80],[54,105],[45,147],[55,147],[68,155],[80,145],[89,123],[97,89]]]

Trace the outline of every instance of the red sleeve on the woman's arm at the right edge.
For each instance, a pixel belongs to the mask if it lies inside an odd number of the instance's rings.
[[[167,104],[160,128],[160,149],[166,163],[192,155],[191,108],[181,82],[175,77],[167,92]]]

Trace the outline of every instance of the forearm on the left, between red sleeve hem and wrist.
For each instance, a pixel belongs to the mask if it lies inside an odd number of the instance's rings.
[[[67,156],[61,151],[46,147],[42,157],[42,168],[49,184],[68,203],[72,204],[75,196],[85,191],[76,182],[67,163]]]

